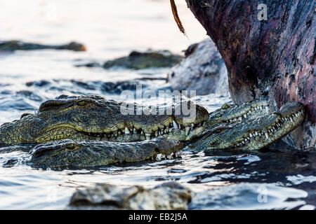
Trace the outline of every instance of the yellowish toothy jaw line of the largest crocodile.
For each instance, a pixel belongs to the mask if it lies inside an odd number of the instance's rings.
[[[124,125],[124,128],[115,131],[101,129],[84,130],[74,125],[58,125],[51,127],[41,137],[37,138],[37,142],[50,142],[62,139],[132,142],[150,140],[159,136],[187,140],[193,135],[202,133],[205,128],[205,121],[181,125],[175,119],[171,120],[170,123],[160,125],[154,130],[145,130],[140,125],[135,125],[135,127],[130,123]]]

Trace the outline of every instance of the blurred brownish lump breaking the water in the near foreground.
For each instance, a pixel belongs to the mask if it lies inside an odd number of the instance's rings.
[[[162,183],[152,189],[142,186],[119,188],[98,183],[72,195],[72,209],[187,209],[194,193],[176,182]]]

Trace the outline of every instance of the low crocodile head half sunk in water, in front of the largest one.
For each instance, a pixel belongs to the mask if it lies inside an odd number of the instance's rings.
[[[183,147],[177,139],[158,137],[150,141],[112,143],[109,141],[62,140],[32,149],[32,167],[96,167],[116,162],[138,162],[176,157]]]

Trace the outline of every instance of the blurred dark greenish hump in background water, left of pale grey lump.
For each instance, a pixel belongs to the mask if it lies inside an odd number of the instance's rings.
[[[103,64],[103,68],[121,66],[126,69],[147,69],[151,67],[171,67],[183,59],[173,55],[169,50],[147,50],[146,52],[132,51],[127,57],[119,57]]]

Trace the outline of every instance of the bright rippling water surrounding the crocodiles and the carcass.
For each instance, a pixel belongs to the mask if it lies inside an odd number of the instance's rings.
[[[169,1],[54,2],[0,1],[0,40],[51,44],[74,40],[85,43],[88,51],[0,53],[0,123],[35,111],[41,102],[60,94],[120,99],[119,92],[105,90],[106,82],[127,80],[133,90],[138,79],[144,89],[169,89],[164,80],[169,69],[106,71],[74,64],[103,62],[147,48],[180,53],[206,37],[183,1],[177,4],[189,38],[178,31]],[[216,94],[196,100],[209,111],[231,101]],[[190,209],[315,209],[315,153],[294,153],[283,146],[275,149],[251,154],[186,151],[176,160],[91,170],[1,166],[0,209],[65,209],[76,189],[94,183],[150,188],[164,181],[178,181],[195,191]],[[1,149],[0,164],[27,156],[26,151]]]

